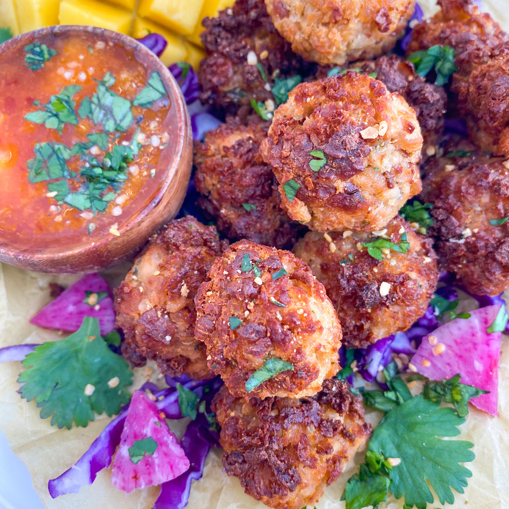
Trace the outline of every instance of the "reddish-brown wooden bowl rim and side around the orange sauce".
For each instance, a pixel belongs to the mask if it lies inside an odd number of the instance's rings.
[[[132,215],[121,228],[119,236],[102,236],[86,244],[66,248],[65,250],[43,250],[34,247],[19,250],[0,239],[0,262],[28,270],[40,272],[92,272],[115,265],[132,256],[147,238],[167,220],[175,217],[184,200],[192,164],[192,130],[185,100],[177,81],[157,55],[139,41],[124,34],[94,26],[54,25],[32,32],[26,32],[0,44],[2,53],[17,47],[28,45],[46,36],[64,36],[69,34],[87,34],[100,36],[121,43],[126,49],[134,49],[136,59],[151,70],[159,72],[166,91],[177,110],[177,130],[171,133],[175,146],[175,157],[166,168],[158,168],[164,174],[161,185],[153,199],[137,214]],[[173,184],[173,187],[172,187]],[[168,193],[174,198],[168,202]],[[165,206],[166,205],[166,206]]]

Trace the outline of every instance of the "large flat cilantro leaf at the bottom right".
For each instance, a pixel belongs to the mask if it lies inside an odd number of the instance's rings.
[[[453,503],[450,488],[463,493],[472,473],[460,463],[472,461],[473,444],[464,440],[442,440],[454,437],[465,419],[451,408],[417,395],[390,410],[371,437],[369,450],[401,462],[389,471],[390,491],[396,498],[405,495],[405,504],[426,509],[433,501],[427,481],[440,503]]]

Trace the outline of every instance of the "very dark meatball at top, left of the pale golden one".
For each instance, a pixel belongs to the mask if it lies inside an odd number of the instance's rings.
[[[198,79],[203,102],[235,115],[251,99],[266,101],[267,80],[312,72],[276,31],[263,0],[236,0],[217,17],[205,18],[202,42],[206,57]],[[259,66],[263,70],[260,71]]]

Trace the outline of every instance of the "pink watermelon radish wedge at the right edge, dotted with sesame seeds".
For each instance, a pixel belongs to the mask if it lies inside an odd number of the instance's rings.
[[[411,364],[421,375],[441,380],[461,375],[460,382],[489,390],[470,402],[480,410],[498,416],[498,360],[500,332],[488,332],[500,305],[470,312],[470,318],[456,318],[422,338]]]

